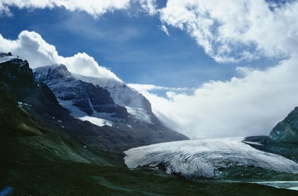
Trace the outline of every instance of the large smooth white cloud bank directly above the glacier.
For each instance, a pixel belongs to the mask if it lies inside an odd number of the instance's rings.
[[[134,85],[170,128],[193,138],[268,135],[298,105],[298,57],[264,71],[239,69],[242,78],[210,81],[192,95]]]

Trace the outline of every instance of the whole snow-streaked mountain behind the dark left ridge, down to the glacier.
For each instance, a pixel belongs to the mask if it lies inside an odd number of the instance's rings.
[[[131,133],[145,144],[188,139],[163,126],[149,100],[123,82],[74,75],[62,64],[39,67],[33,73],[80,120]]]

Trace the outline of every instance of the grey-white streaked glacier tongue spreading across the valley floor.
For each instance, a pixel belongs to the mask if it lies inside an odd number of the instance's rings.
[[[298,173],[296,162],[250,147],[243,140],[209,138],[160,143],[124,151],[124,159],[129,168],[162,164],[167,173],[181,173],[186,178],[215,177],[220,167],[240,165]]]

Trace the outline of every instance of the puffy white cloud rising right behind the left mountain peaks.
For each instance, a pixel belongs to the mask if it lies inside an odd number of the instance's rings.
[[[55,46],[48,44],[35,32],[22,31],[16,40],[7,40],[0,34],[0,51],[11,52],[28,60],[31,68],[62,63],[72,73],[121,81],[114,73],[99,66],[93,57],[84,52],[71,57],[60,56]]]

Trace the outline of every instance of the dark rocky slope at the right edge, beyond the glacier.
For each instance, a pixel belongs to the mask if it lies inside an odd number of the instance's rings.
[[[298,107],[279,122],[270,132],[273,141],[298,142]]]

